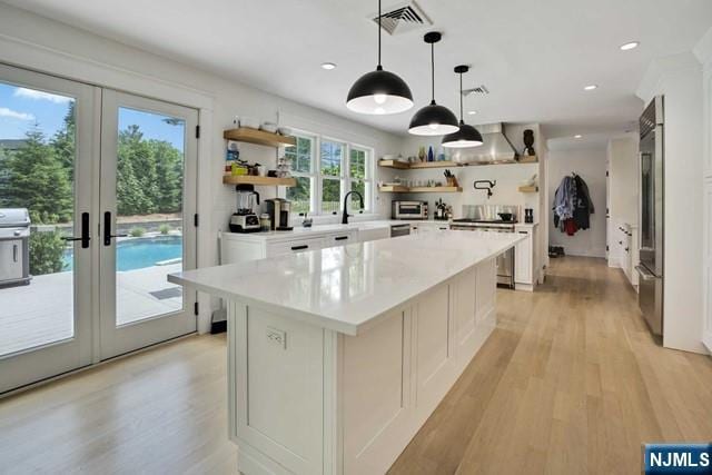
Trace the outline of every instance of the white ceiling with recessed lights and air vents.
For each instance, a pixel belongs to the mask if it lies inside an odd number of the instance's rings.
[[[403,133],[416,109],[367,117],[345,107],[354,80],[376,66],[377,8],[364,0],[6,0],[221,76]],[[398,0],[385,0],[387,7]],[[436,99],[457,109],[452,68],[472,66],[471,123],[542,122],[547,137],[620,135],[641,110],[634,91],[651,59],[690,50],[712,26],[710,0],[418,0],[443,32]],[[429,100],[426,30],[384,36],[383,65]],[[632,51],[619,46],[641,41]],[[333,61],[338,68],[323,70]],[[583,91],[599,85],[592,92]]]

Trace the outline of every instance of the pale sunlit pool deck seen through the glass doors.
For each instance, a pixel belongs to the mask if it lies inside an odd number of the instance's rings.
[[[166,280],[180,270],[181,264],[171,264],[117,273],[117,324],[180,309],[181,287]],[[27,286],[0,288],[0,355],[72,336],[72,276],[47,274]]]

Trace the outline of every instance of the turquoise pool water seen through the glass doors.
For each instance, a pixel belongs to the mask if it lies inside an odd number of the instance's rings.
[[[126,239],[117,243],[117,270],[135,270],[155,266],[161,260],[182,257],[182,236],[157,236],[152,238]],[[73,253],[65,253],[63,270],[73,267]]]

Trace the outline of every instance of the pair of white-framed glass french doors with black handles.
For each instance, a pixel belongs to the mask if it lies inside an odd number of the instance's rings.
[[[166,275],[195,267],[196,126],[0,65],[0,270],[27,269],[0,271],[0,393],[195,331],[195,294]]]

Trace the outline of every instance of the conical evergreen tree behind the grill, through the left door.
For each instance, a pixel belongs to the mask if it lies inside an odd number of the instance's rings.
[[[28,208],[37,216],[56,216],[59,222],[71,220],[72,187],[67,169],[37,126],[26,133],[24,147],[3,161],[7,206]]]

